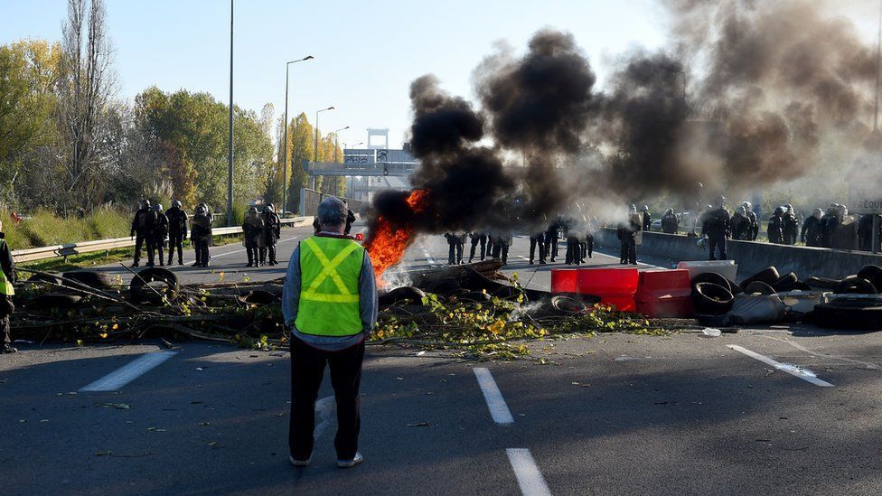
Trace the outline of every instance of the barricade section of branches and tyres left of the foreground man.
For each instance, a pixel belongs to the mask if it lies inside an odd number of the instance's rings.
[[[138,291],[133,291],[133,285],[121,281],[114,284],[99,278],[86,284],[71,273],[18,270],[32,276],[16,287],[11,317],[15,339],[84,344],[192,338],[269,348],[289,337],[279,304],[281,280],[178,285],[174,279],[156,285],[145,277],[141,281],[145,284],[134,285]],[[145,272],[134,277],[140,274]]]

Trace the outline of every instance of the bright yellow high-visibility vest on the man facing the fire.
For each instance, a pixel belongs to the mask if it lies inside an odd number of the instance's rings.
[[[313,236],[300,243],[300,304],[305,334],[352,336],[362,330],[359,276],[364,248],[352,239]]]

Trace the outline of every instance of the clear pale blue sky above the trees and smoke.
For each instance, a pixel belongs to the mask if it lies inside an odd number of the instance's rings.
[[[229,98],[230,2],[107,0],[119,94],[150,85]],[[0,43],[61,37],[65,0],[0,0]],[[860,9],[869,13],[874,9]],[[366,127],[389,127],[397,146],[409,126],[408,84],[435,73],[452,93],[472,98],[475,65],[499,40],[521,50],[549,26],[573,33],[601,77],[609,61],[635,47],[662,46],[667,17],[653,0],[238,0],[235,102],[284,111],[285,61],[291,66],[289,114],[318,108],[323,131],[350,145]]]

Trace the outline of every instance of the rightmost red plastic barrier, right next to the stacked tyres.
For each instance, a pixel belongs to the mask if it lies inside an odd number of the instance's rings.
[[[634,295],[637,312],[654,318],[690,318],[690,272],[687,269],[642,270]]]

